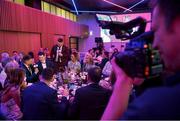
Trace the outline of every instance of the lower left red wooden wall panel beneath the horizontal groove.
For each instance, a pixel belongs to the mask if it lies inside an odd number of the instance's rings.
[[[41,47],[40,34],[0,31],[0,50],[12,54],[13,50],[28,53],[37,52]]]

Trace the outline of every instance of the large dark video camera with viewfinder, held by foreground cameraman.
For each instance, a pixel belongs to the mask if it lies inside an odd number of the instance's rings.
[[[102,18],[106,18],[103,20]],[[110,34],[117,39],[130,40],[124,52],[115,55],[115,61],[125,73],[134,78],[152,79],[160,76],[163,63],[158,50],[152,48],[153,32],[145,32],[146,20],[138,17],[129,22],[114,22],[108,15],[96,15],[103,29],[110,29]],[[135,30],[135,31],[134,31]]]

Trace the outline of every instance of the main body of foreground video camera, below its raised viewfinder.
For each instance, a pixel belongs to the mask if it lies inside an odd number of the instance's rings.
[[[159,52],[152,48],[153,32],[146,32],[130,40],[125,51],[115,61],[130,77],[151,78],[163,71]]]

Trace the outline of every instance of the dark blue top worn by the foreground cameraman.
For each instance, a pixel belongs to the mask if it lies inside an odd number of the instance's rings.
[[[149,89],[134,100],[121,119],[179,120],[180,73],[168,78],[165,82],[165,86]]]

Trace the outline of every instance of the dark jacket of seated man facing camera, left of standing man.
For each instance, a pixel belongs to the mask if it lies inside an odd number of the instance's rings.
[[[37,65],[38,65],[38,70],[39,70],[38,74],[40,75],[42,73],[42,71],[43,71],[43,66],[42,66],[41,61],[38,61]],[[54,63],[51,62],[50,60],[46,60],[46,67],[47,68],[52,68],[54,70]]]

